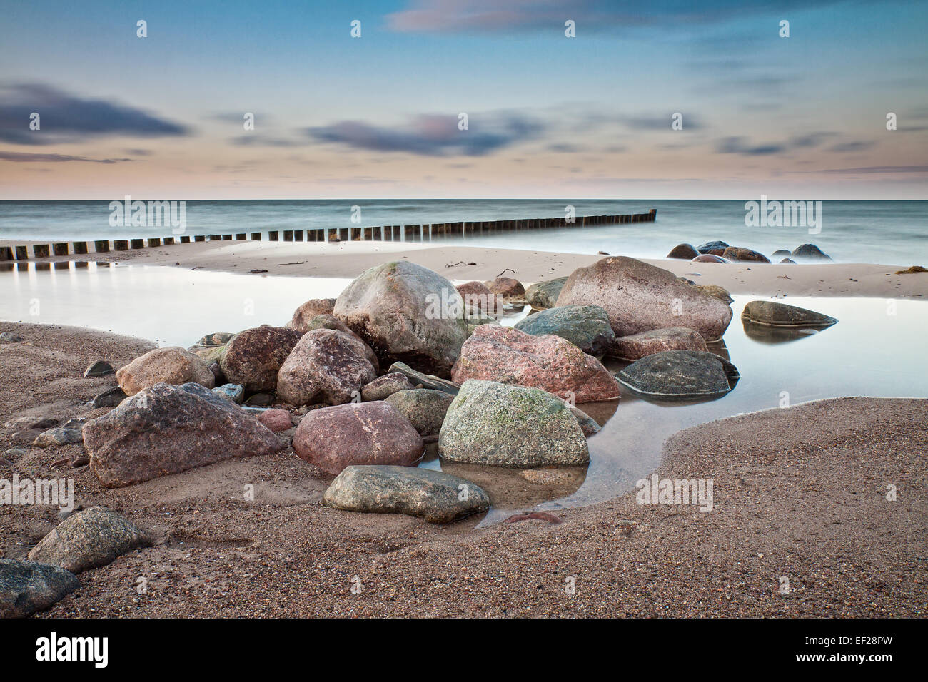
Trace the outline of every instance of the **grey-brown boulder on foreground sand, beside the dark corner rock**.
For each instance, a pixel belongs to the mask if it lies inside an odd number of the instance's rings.
[[[29,560],[81,573],[150,544],[148,534],[133,523],[109,509],[92,507],[61,521],[32,549]]]

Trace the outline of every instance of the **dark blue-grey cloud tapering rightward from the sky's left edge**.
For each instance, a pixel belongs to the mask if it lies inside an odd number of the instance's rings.
[[[40,129],[30,130],[32,112]],[[102,135],[188,135],[183,125],[104,99],[84,99],[43,84],[0,88],[0,140],[19,145],[74,142]]]

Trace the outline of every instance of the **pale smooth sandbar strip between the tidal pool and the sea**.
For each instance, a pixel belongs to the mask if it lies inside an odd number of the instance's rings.
[[[668,244],[667,250],[673,246]],[[230,273],[266,270],[258,276],[293,277],[357,277],[368,267],[393,258],[424,265],[453,280],[485,280],[506,275],[530,283],[566,277],[576,268],[593,264],[603,256],[465,246],[433,247],[409,242],[204,241],[70,258]],[[688,277],[697,284],[715,284],[736,294],[928,298],[928,273],[895,274],[909,264],[713,264],[643,260]]]

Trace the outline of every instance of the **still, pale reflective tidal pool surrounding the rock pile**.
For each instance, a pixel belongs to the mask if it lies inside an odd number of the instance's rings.
[[[283,325],[312,298],[333,298],[351,281],[336,277],[261,277],[171,267],[115,264],[29,264],[0,272],[0,319],[97,328],[187,347],[206,333]],[[481,525],[530,508],[582,507],[634,489],[657,469],[664,441],[714,419],[842,396],[928,397],[922,357],[928,302],[883,299],[778,299],[838,318],[815,333],[747,333],[745,303],[711,346],[741,372],[728,395],[703,403],[653,403],[623,387],[620,401],[579,405],[603,425],[589,440],[588,468],[522,474],[444,465],[434,446],[423,467],[444,468],[483,486],[494,507]],[[527,311],[503,321],[514,324]],[[624,363],[607,363],[617,371]],[[693,478],[709,472],[692,472]]]

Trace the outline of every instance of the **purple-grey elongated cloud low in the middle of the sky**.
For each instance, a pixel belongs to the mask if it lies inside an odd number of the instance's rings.
[[[306,134],[317,142],[373,151],[421,156],[483,156],[534,139],[545,129],[540,122],[510,112],[474,114],[468,125],[468,130],[458,130],[458,116],[424,114],[403,127],[342,121],[307,128]]]

